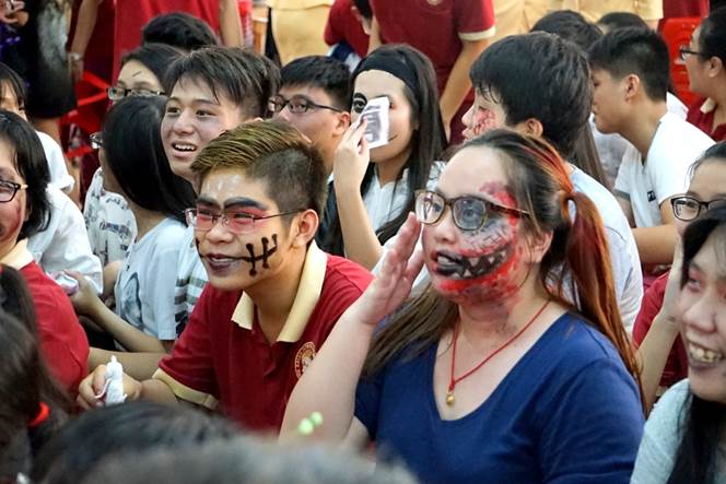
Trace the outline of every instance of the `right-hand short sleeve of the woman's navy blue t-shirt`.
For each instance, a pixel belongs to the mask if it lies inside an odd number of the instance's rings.
[[[620,362],[602,357],[589,363],[561,383],[541,412],[542,482],[628,482],[643,434],[643,410]]]

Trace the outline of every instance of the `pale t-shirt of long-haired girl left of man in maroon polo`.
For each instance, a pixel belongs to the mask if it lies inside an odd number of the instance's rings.
[[[114,287],[116,314],[162,341],[176,340],[180,331],[174,315],[174,283],[184,232],[183,223],[164,219],[132,243]]]

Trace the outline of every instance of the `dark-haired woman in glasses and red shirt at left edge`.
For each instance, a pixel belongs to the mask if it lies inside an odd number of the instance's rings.
[[[50,222],[49,181],[48,164],[33,128],[20,116],[0,110],[0,263],[23,276],[48,368],[61,388],[75,394],[87,373],[89,341],[68,296],[27,249],[27,238]]]

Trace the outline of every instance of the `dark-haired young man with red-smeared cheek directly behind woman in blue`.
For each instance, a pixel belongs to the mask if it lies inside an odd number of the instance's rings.
[[[512,59],[518,59],[513,62]],[[469,73],[476,98],[462,118],[464,137],[508,128],[551,142],[565,160],[584,129],[589,129],[592,88],[587,59],[559,36],[532,33],[491,45]],[[582,169],[565,164],[575,190],[587,194],[602,217],[612,261],[616,295],[631,331],[643,284],[637,247],[628,220],[610,191]]]

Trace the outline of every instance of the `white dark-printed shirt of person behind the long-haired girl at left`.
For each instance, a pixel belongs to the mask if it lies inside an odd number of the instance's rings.
[[[136,219],[124,197],[104,190],[101,168],[93,175],[85,196],[83,216],[93,253],[101,263],[105,267],[124,260],[137,235]]]

